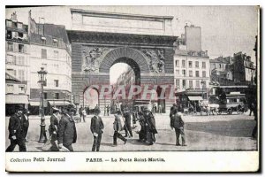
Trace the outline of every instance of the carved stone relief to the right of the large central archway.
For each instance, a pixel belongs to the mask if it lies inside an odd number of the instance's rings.
[[[141,50],[148,57],[148,65],[152,73],[164,73],[163,50]]]

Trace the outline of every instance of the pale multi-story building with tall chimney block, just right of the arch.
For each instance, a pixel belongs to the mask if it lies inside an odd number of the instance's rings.
[[[208,51],[201,50],[201,27],[192,25],[186,26],[185,29],[185,35],[181,35],[178,40],[174,55],[177,101],[182,93],[188,94],[193,91],[200,93],[200,96],[193,97],[196,98],[193,101],[199,101],[207,98],[210,67]]]

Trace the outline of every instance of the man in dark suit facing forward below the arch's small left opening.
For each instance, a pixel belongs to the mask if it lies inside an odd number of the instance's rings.
[[[104,128],[104,124],[102,118],[99,116],[100,112],[99,108],[95,109],[95,116],[91,119],[90,130],[94,137],[92,151],[99,151],[102,142],[102,129]]]

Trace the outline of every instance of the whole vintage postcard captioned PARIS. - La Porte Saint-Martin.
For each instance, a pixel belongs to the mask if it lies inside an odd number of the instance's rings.
[[[259,29],[259,6],[6,6],[6,171],[259,171]]]

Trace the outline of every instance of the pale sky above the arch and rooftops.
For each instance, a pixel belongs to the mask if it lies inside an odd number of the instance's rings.
[[[64,25],[66,29],[71,29],[70,8],[173,16],[173,35],[183,34],[186,23],[201,27],[202,50],[208,50],[209,58],[232,56],[233,53],[242,51],[254,61],[255,35],[258,34],[256,6],[57,6],[6,9],[5,15],[6,19],[10,19],[11,13],[17,12],[19,21],[27,24],[28,11],[32,10],[32,17],[36,22],[39,22],[39,18],[45,18],[46,23]]]

